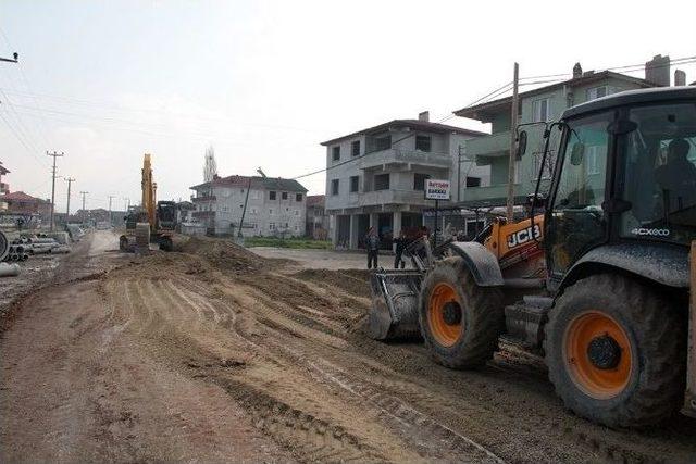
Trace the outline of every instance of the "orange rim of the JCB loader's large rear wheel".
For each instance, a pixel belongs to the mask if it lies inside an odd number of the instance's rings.
[[[586,394],[606,400],[629,385],[633,364],[631,342],[613,317],[587,311],[571,322],[564,339],[566,366]]]

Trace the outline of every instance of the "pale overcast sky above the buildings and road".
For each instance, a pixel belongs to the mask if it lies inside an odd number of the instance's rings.
[[[20,53],[0,62],[3,181],[50,198],[58,151],[58,212],[65,177],[72,211],[80,191],[122,210],[151,153],[158,199],[185,200],[208,146],[221,176],[293,178],[325,167],[322,141],[421,111],[485,130],[451,112],[515,61],[533,77],[694,57],[694,17],[693,0],[0,0],[0,57]],[[299,180],[324,192],[324,174]]]

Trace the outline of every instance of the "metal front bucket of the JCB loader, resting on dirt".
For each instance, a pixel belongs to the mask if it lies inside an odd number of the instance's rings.
[[[377,271],[370,278],[372,308],[366,331],[375,340],[420,337],[419,293],[423,274],[419,271]]]

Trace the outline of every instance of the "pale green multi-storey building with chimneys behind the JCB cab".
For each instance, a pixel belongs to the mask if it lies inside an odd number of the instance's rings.
[[[573,77],[568,80],[521,92],[519,95],[519,124],[543,123],[558,120],[562,112],[571,106],[596,98],[623,90],[669,86],[669,58],[656,57],[646,63],[646,77],[642,79],[624,74],[604,72],[583,73],[580,64],[573,67]],[[478,166],[490,168],[490,184],[468,189],[462,198],[463,205],[505,205],[508,189],[510,130],[512,97],[501,98],[485,103],[455,111],[461,117],[490,123],[492,134],[468,140],[465,156],[475,161]],[[526,126],[526,154],[515,162],[514,195],[515,202],[522,203],[526,196],[534,192],[536,179],[542,170],[540,161],[544,149],[544,125]],[[555,147],[558,143],[558,130],[551,131],[549,158],[542,174],[542,193],[547,188],[556,160]],[[597,153],[588,147],[587,175],[597,174],[600,164]]]

